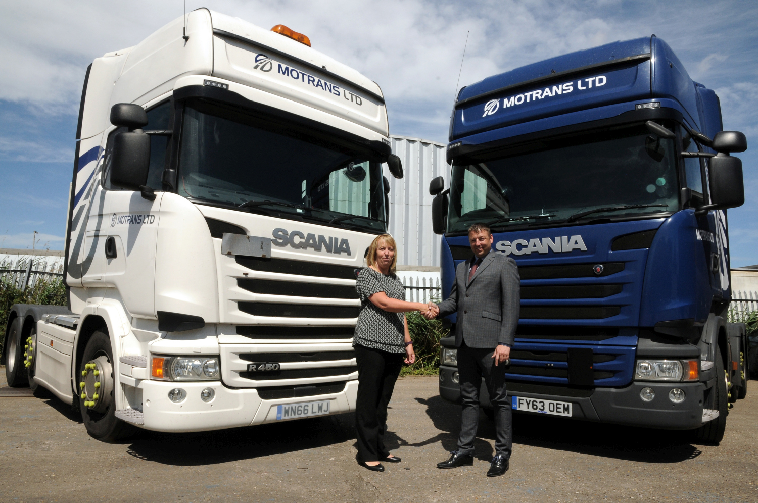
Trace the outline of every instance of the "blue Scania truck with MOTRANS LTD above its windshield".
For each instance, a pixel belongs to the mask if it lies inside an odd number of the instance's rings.
[[[744,325],[727,320],[726,211],[744,202],[730,154],[746,148],[654,35],[461,89],[450,186],[430,185],[443,298],[472,256],[468,227],[487,224],[521,277],[515,411],[722,439],[747,392]],[[453,339],[440,395],[459,401]],[[484,386],[481,399],[487,412]]]

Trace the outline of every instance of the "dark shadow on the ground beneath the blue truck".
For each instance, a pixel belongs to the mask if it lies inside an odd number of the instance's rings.
[[[416,401],[427,407],[426,413],[434,427],[443,433],[411,445],[421,446],[441,441],[449,451],[457,448],[460,405],[450,404],[440,396],[416,398]],[[480,415],[477,436],[475,456],[490,461],[492,448],[489,442],[481,439],[495,439],[495,427],[484,414]],[[516,451],[518,444],[521,444],[627,461],[678,463],[700,455],[700,451],[691,442],[692,433],[688,431],[650,430],[542,414],[513,414],[513,443]]]

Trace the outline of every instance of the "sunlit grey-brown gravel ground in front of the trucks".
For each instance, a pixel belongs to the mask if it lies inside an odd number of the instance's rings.
[[[57,398],[0,398],[0,501],[758,501],[755,393],[731,410],[717,446],[515,414],[511,468],[493,479],[484,416],[475,465],[434,467],[456,447],[460,414],[436,377],[399,380],[390,406],[402,463],[373,473],[356,464],[352,414],[106,444]]]

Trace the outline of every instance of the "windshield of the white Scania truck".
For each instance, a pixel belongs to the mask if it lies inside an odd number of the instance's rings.
[[[196,100],[184,108],[177,190],[202,202],[383,232],[381,164],[357,145]],[[255,202],[265,202],[256,204]]]

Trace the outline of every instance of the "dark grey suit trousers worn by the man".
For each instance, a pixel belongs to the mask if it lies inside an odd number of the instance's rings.
[[[479,388],[484,377],[490,402],[495,409],[495,455],[509,459],[512,450],[512,411],[506,396],[506,364],[495,366],[493,352],[487,348],[470,348],[465,342],[458,348],[462,401],[458,448],[462,454],[474,454],[479,425]]]

